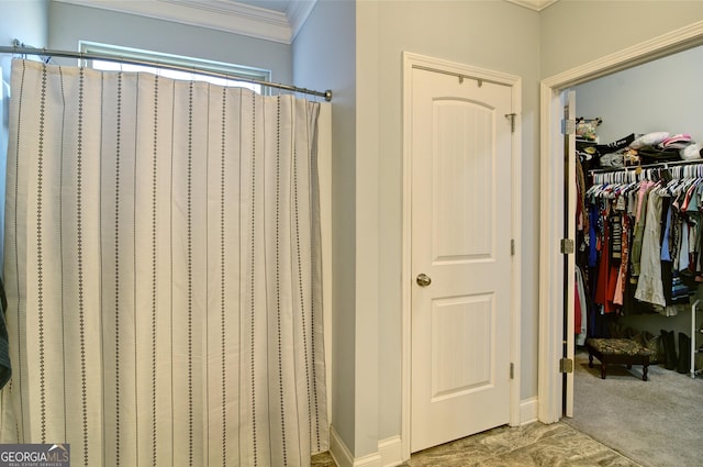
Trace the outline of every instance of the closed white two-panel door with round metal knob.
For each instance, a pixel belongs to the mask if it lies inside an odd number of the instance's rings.
[[[512,88],[412,74],[416,452],[510,421]]]

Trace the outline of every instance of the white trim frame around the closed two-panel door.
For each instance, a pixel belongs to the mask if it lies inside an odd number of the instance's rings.
[[[510,358],[514,364],[510,389],[510,424],[520,424],[520,293],[521,293],[521,112],[522,112],[522,78],[498,71],[471,67],[439,58],[423,55],[403,53],[403,225],[402,225],[402,298],[401,298],[401,454],[403,459],[410,458],[410,431],[411,431],[411,305],[412,305],[412,271],[411,271],[411,107],[412,99],[412,69],[413,67],[424,67],[437,73],[461,75],[466,79],[482,79],[486,81],[499,82],[512,87],[512,108],[515,116],[515,131],[512,134],[512,238],[515,242],[515,254],[512,256],[511,265],[511,330],[510,330]],[[458,79],[458,78],[457,78]],[[507,184],[506,184],[507,186]],[[505,245],[509,247],[509,245]]]

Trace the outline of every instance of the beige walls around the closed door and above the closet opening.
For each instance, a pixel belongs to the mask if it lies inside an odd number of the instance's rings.
[[[347,368],[356,375],[349,429],[356,437],[348,446],[360,457],[401,431],[402,52],[523,78],[521,398],[527,400],[537,394],[538,366],[539,80],[690,24],[703,18],[703,2],[561,0],[540,13],[491,0],[358,3],[356,180],[346,193],[355,190],[356,270],[354,292],[344,289],[356,300]],[[364,383],[375,378],[378,389],[370,390]]]

